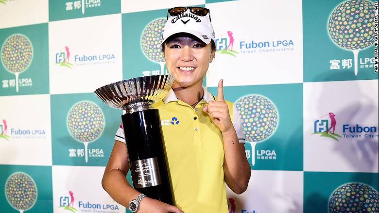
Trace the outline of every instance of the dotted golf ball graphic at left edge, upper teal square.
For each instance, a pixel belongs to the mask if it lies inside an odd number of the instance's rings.
[[[7,71],[25,71],[33,59],[33,47],[25,35],[9,36],[1,48],[1,62]]]

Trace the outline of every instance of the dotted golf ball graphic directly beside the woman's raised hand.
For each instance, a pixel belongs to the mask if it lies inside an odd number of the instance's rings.
[[[273,134],[278,124],[278,113],[270,100],[248,95],[239,99],[235,106],[241,116],[246,141],[260,142]]]

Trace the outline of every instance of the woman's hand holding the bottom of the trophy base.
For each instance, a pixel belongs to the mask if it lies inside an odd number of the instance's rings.
[[[176,206],[145,197],[139,202],[137,213],[184,213]]]

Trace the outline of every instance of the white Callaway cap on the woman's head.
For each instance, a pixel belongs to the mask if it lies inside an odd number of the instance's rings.
[[[177,33],[195,35],[206,44],[209,44],[211,40],[215,42],[216,39],[209,13],[206,16],[197,16],[191,13],[189,8],[184,13],[178,16],[170,16],[167,19],[160,45],[168,37]]]

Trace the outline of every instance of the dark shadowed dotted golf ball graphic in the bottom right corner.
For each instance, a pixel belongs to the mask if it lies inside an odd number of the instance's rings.
[[[329,213],[379,213],[378,192],[361,183],[349,183],[333,192]]]

